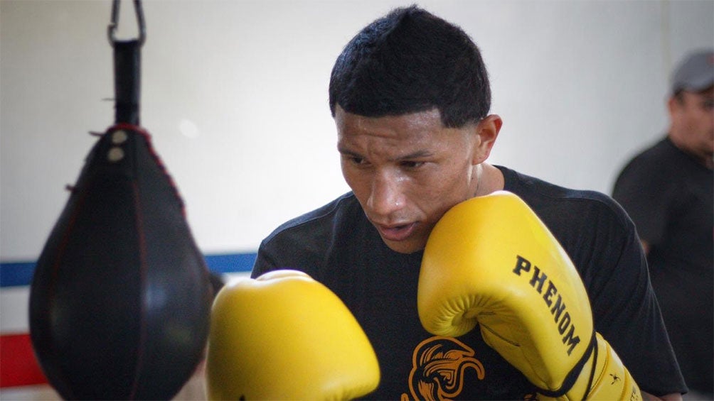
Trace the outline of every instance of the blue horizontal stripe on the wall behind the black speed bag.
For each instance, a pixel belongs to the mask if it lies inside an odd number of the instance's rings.
[[[216,273],[251,271],[257,254],[206,255],[206,265]],[[0,287],[29,286],[35,271],[35,262],[0,263]]]

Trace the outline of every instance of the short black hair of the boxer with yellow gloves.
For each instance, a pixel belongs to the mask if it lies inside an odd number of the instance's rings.
[[[366,117],[437,108],[445,127],[488,115],[481,52],[458,26],[417,6],[394,9],[347,43],[330,77],[330,110]]]

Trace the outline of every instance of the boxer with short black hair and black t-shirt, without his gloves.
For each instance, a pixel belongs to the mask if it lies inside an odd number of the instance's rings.
[[[273,231],[252,276],[298,269],[344,301],[381,368],[380,384],[366,398],[536,397],[538,389],[478,330],[458,338],[431,335],[417,311],[433,226],[454,205],[506,189],[538,214],[573,260],[595,330],[640,389],[680,399],[686,387],[632,222],[603,194],[486,162],[502,121],[489,114],[486,68],[461,28],[415,6],[392,11],[344,48],[329,96],[352,192]]]

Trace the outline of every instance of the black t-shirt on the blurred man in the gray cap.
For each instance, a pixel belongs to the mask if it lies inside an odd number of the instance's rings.
[[[714,173],[668,139],[633,158],[613,197],[650,245],[652,286],[692,390],[714,394]]]

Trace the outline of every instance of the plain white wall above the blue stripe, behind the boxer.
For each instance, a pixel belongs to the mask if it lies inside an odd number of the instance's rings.
[[[348,188],[327,106],[334,59],[409,1],[145,0],[141,123],[206,253],[254,251]],[[483,50],[491,162],[609,192],[666,128],[673,63],[712,46],[712,1],[421,1]],[[114,120],[111,1],[0,1],[0,260],[34,261]],[[122,3],[119,36],[134,37]]]

